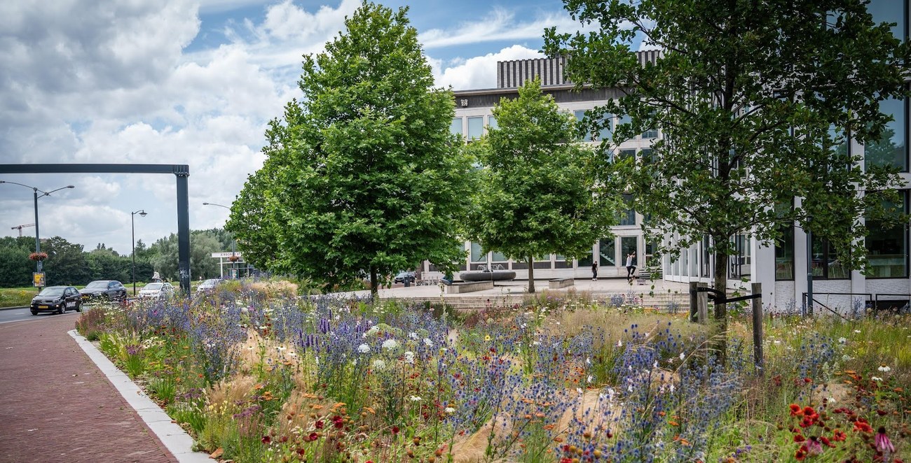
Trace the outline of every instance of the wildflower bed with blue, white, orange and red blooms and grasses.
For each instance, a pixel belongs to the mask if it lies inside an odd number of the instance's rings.
[[[244,285],[95,308],[77,327],[234,461],[907,456],[906,319],[770,319],[760,377],[737,320],[718,365],[683,317],[539,300],[435,316]]]

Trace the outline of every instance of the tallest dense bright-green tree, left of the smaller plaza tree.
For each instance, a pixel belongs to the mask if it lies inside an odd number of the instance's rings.
[[[375,292],[384,275],[459,257],[470,163],[449,133],[452,93],[434,87],[406,12],[363,3],[324,53],[304,57],[304,98],[267,133],[275,171],[252,176],[233,205],[245,254],[262,232],[276,237],[255,262],[273,252],[267,268],[329,285],[369,275]]]

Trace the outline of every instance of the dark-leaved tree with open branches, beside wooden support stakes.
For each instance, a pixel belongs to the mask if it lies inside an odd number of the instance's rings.
[[[568,55],[573,82],[620,90],[601,108],[630,116],[615,142],[661,131],[653,160],[608,172],[654,230],[679,237],[669,250],[711,237],[714,287],[725,291],[732,237],[770,243],[795,220],[862,265],[862,219],[882,213],[876,206],[895,197],[897,176],[864,170],[840,146],[846,134],[862,143],[881,136],[880,102],[906,96],[909,55],[865,0],[564,3],[595,30],[548,30],[548,54]],[[630,48],[640,39],[662,50],[654,64]],[[776,207],[794,198],[796,206]],[[715,316],[726,329],[724,304]]]

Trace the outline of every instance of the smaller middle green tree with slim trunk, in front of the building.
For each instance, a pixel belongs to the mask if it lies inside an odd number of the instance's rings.
[[[609,236],[616,195],[596,193],[595,153],[578,139],[575,118],[560,112],[540,80],[527,81],[518,98],[494,107],[478,149],[481,188],[471,234],[486,249],[528,263],[528,292],[535,292],[534,258],[568,258],[591,252]]]

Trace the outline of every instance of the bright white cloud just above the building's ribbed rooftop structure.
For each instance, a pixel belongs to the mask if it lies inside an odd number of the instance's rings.
[[[432,65],[437,86],[452,86],[455,90],[495,88],[496,62],[540,57],[544,55],[537,50],[512,45],[496,53],[458,60],[450,67],[444,67],[439,61]]]

